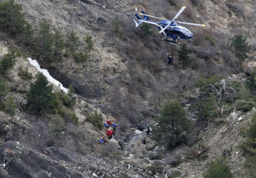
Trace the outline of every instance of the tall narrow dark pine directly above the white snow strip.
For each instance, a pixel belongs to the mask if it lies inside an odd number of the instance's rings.
[[[51,24],[43,19],[39,24],[39,32],[36,36],[36,48],[39,51],[39,55],[45,56],[47,59],[52,57],[52,33],[50,33]]]

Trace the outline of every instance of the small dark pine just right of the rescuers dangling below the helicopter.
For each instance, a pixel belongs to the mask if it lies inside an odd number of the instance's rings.
[[[194,61],[194,59],[190,59],[188,56],[191,52],[192,50],[189,49],[186,44],[180,45],[180,50],[178,50],[178,59],[181,61],[184,67],[188,66]]]

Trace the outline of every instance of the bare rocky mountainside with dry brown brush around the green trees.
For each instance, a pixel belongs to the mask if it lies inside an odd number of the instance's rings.
[[[158,146],[154,139],[147,137],[145,126],[156,125],[153,119],[159,116],[161,104],[167,99],[178,99],[185,108],[185,104],[193,105],[198,95],[194,82],[201,76],[209,78],[218,74],[244,81],[244,73],[256,66],[253,0],[157,3],[152,0],[15,0],[15,3],[22,4],[25,19],[35,32],[42,19],[52,25],[52,31],[57,29],[67,34],[74,30],[81,39],[78,50],[85,52],[88,59],[78,63],[73,57],[64,56],[62,60],[47,62],[35,55],[31,46],[21,44],[18,37],[0,31],[0,59],[12,47],[26,53],[1,74],[10,87],[7,96],[13,97],[17,109],[14,115],[0,111],[0,177],[203,178],[209,162],[219,155],[227,156],[235,178],[248,177],[245,158],[237,145],[243,140],[240,130],[249,126],[255,110],[234,109],[224,118],[202,123],[187,111],[196,125],[197,139],[191,139],[192,146],[181,145],[174,150]],[[183,66],[178,60],[180,47],[157,40],[162,36],[156,28],[145,36],[131,20],[135,6],[149,14],[172,19],[184,5],[187,9],[181,14],[181,21],[207,25],[204,29],[188,27],[194,38],[193,42],[184,43],[193,49],[190,57],[196,59],[190,66]],[[123,35],[113,32],[112,21],[116,15]],[[246,34],[252,46],[251,59],[242,66],[237,65],[237,56],[227,45],[229,37],[238,33]],[[85,47],[86,34],[92,35],[91,51]],[[170,50],[175,56],[173,66],[166,65],[166,53]],[[36,59],[66,88],[69,84],[75,88],[78,100],[73,108],[64,108],[68,116],[63,117],[65,124],[57,133],[49,129],[56,125],[54,114],[27,112],[26,93],[30,82],[36,80],[37,70],[26,57]],[[20,66],[32,73],[32,80],[18,75]],[[59,88],[55,86],[54,91]],[[89,122],[89,114],[94,111],[101,113],[103,121],[111,119],[118,125],[116,135],[104,145],[98,142],[105,130]],[[72,113],[78,118],[77,123],[70,122]],[[43,141],[43,146],[35,138]],[[203,152],[199,156],[198,149]]]

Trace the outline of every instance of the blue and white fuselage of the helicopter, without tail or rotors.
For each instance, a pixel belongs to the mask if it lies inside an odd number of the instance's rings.
[[[167,26],[171,21],[170,20],[162,20],[157,22],[163,28]],[[158,29],[161,30],[161,27],[158,26]],[[164,34],[165,33],[165,34]],[[162,33],[164,36],[173,37],[174,35],[177,36],[177,39],[181,40],[190,40],[193,37],[193,34],[185,27],[178,25],[177,23],[171,23]]]

